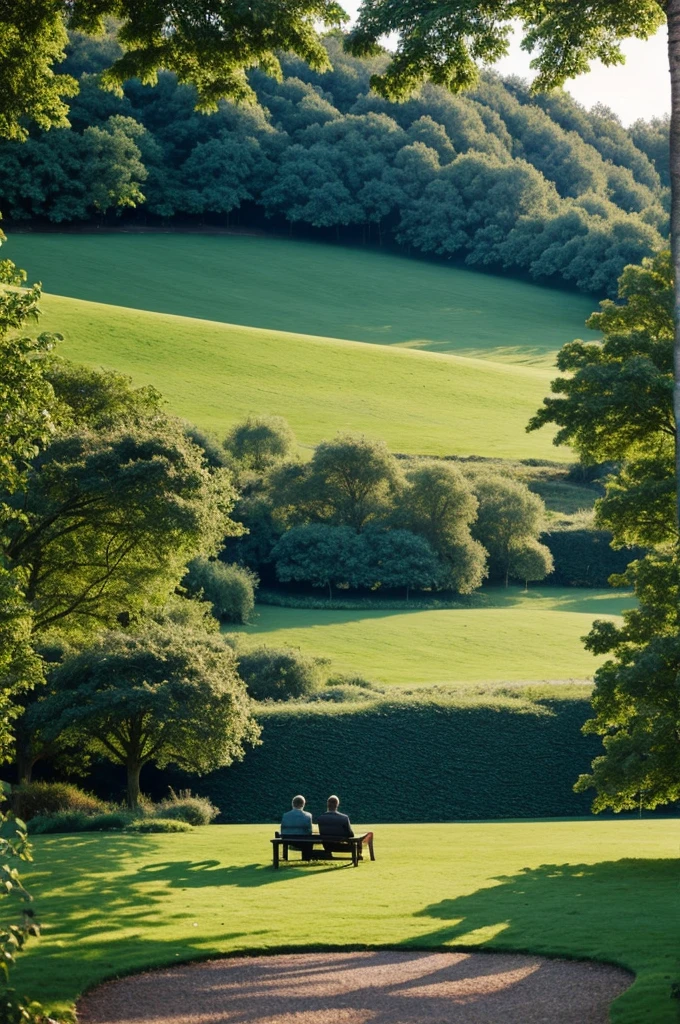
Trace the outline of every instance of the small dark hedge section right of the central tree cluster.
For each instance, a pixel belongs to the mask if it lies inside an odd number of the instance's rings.
[[[559,587],[606,587],[610,575],[623,572],[630,562],[645,555],[643,548],[614,551],[606,529],[554,530],[544,534],[541,541],[555,561],[547,582]]]

